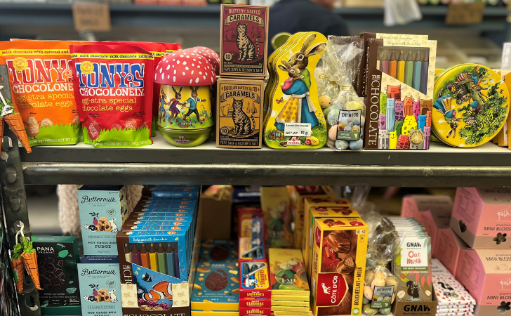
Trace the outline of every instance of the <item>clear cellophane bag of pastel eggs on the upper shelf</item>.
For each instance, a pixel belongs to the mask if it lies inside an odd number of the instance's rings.
[[[359,71],[364,41],[359,37],[328,37],[323,55],[324,77],[329,80],[319,91],[324,110],[328,140],[333,150],[362,150],[366,107],[364,99],[354,91],[353,83]]]

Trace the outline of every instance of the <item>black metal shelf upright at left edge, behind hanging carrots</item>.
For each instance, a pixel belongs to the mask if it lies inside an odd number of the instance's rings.
[[[1,124],[4,124],[4,122]],[[0,195],[4,206],[9,249],[13,251],[17,242],[16,236],[20,229],[23,230],[22,235],[25,235],[25,237],[29,237],[31,234],[18,138],[8,128],[7,124],[4,127],[5,133],[1,142],[2,150],[0,154]],[[2,139],[0,138],[0,140]],[[25,272],[23,278],[23,291],[18,294],[18,306],[20,307],[20,315],[41,316],[39,291],[37,291],[27,272]]]

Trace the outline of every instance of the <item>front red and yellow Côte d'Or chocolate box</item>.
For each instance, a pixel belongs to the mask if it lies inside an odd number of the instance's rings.
[[[360,218],[314,220],[311,301],[315,316],[361,313],[368,230]]]

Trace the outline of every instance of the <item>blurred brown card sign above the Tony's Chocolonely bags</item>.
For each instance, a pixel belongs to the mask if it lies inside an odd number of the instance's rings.
[[[73,4],[74,29],[77,31],[110,32],[108,4]]]

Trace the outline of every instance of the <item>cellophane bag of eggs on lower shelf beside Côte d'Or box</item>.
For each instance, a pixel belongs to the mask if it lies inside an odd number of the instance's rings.
[[[401,239],[382,221],[373,232],[367,249],[366,275],[364,278],[364,315],[388,315],[397,292],[397,278],[387,268],[394,259]]]

